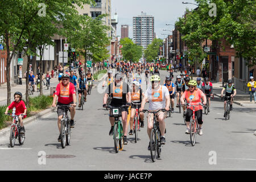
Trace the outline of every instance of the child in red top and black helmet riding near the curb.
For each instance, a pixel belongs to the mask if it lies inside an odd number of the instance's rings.
[[[26,118],[26,113],[27,113],[27,107],[25,103],[22,101],[22,93],[20,92],[15,92],[14,93],[14,101],[11,103],[10,106],[6,108],[5,114],[8,114],[9,109],[13,109],[15,107],[15,115],[19,115],[19,123],[21,126],[20,133],[24,134],[25,129],[23,126],[23,118]],[[23,115],[20,115],[23,114]]]

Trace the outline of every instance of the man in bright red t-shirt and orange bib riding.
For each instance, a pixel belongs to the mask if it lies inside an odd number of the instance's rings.
[[[69,82],[69,75],[68,74],[63,74],[61,76],[61,81],[57,85],[56,90],[55,90],[55,95],[53,97],[52,101],[52,107],[56,107],[56,101],[58,98],[57,105],[72,105],[70,107],[70,115],[71,115],[71,127],[74,127],[74,117],[76,114],[75,107],[76,107],[76,90],[74,84]],[[63,118],[64,110],[61,108],[57,109],[57,114],[58,114],[58,127],[60,131],[60,126],[61,126],[61,119]],[[60,142],[60,135],[58,138],[58,141]]]

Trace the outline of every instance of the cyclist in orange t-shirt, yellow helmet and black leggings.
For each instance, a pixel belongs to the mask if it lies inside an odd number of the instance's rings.
[[[203,99],[203,104],[207,104],[207,98],[205,97],[205,94],[202,92],[202,90],[196,88],[197,82],[196,80],[190,80],[188,82],[188,89],[185,90],[183,95],[180,97],[181,104],[184,105],[184,99],[187,100],[187,102],[190,105],[197,105],[201,102],[201,98]],[[187,130],[185,131],[186,134],[189,134],[189,124],[191,116],[193,115],[193,107],[187,107],[187,113],[186,113],[186,125]],[[199,123],[199,135],[203,135],[203,106],[198,105],[195,107],[195,115],[197,117],[197,122]]]

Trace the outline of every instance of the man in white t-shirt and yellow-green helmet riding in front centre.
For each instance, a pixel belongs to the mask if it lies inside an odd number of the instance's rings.
[[[158,75],[153,75],[150,77],[150,82],[152,86],[148,86],[147,92],[144,94],[141,108],[139,111],[144,109],[146,101],[149,101],[148,110],[149,111],[158,111],[160,109],[170,110],[170,94],[166,86],[160,85],[160,77]],[[161,133],[160,143],[166,144],[166,138],[164,137],[164,131],[166,129],[166,123],[164,119],[166,118],[167,113],[163,111],[159,111],[156,114],[156,119],[159,122],[159,128]],[[154,123],[154,115],[152,113],[148,113],[147,115],[147,134],[148,138],[150,138],[151,130],[153,128]],[[148,150],[150,150],[150,144],[148,145]]]

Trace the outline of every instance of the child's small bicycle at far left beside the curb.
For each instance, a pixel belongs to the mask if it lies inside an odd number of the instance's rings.
[[[19,123],[19,115],[23,115],[23,114],[6,114],[6,115],[10,115],[11,117],[13,117],[13,124],[11,125],[11,133],[10,133],[10,146],[14,147],[15,144],[15,139],[18,138],[19,140],[19,144],[22,145],[24,143],[25,140],[25,134],[21,134],[20,133],[20,123]]]

